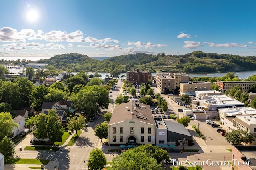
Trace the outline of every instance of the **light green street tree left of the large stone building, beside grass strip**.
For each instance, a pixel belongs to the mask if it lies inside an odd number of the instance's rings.
[[[79,115],[78,117],[74,116],[68,121],[68,129],[76,130],[76,135],[78,135],[77,130],[80,130],[84,127],[85,127],[85,119],[83,115]]]

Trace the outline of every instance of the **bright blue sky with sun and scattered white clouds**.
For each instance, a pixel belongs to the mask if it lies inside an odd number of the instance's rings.
[[[1,0],[0,6],[4,59],[256,53],[255,0]]]

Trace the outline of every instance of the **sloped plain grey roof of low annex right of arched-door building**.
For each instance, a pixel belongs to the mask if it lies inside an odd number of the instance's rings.
[[[167,127],[167,130],[170,131],[170,132],[183,134],[183,135],[186,135],[186,136],[191,136],[191,134],[188,132],[188,130],[181,123],[176,123],[176,122],[173,122],[173,121],[166,121],[166,120],[164,120],[164,123]]]

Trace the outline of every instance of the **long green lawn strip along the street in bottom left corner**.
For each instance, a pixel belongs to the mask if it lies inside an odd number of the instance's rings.
[[[5,164],[34,164],[34,165],[47,165],[50,160],[46,159],[12,159],[6,161]]]

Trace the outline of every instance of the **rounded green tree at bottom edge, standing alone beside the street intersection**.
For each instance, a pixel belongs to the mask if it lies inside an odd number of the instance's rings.
[[[102,170],[107,165],[107,158],[99,148],[93,148],[90,152],[88,167],[92,170]]]

